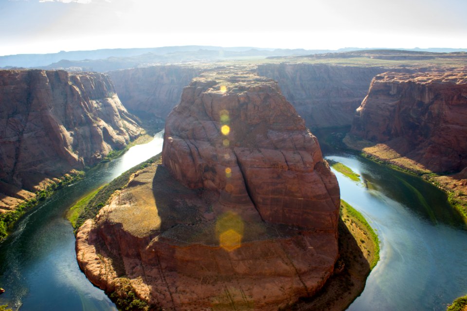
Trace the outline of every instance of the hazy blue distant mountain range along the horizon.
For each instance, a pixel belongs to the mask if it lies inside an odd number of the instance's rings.
[[[213,61],[251,57],[305,56],[311,54],[362,51],[368,48],[339,50],[267,49],[254,47],[174,46],[136,49],[102,49],[94,51],[61,51],[49,54],[17,54],[0,56],[0,68],[41,68],[107,71],[138,66]],[[378,50],[392,50],[381,49]],[[467,49],[430,48],[398,49],[416,52],[467,52]]]

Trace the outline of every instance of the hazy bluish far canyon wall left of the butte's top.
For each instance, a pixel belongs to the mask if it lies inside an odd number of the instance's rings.
[[[165,119],[180,102],[183,87],[200,69],[186,66],[152,66],[108,71],[118,96],[130,111]]]

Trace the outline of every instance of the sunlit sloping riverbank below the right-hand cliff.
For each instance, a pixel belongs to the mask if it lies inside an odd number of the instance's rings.
[[[332,139],[331,139],[332,140]],[[335,139],[334,139],[335,140]],[[467,170],[455,174],[437,174],[427,170],[410,158],[399,155],[390,146],[374,143],[350,134],[341,139],[346,149],[359,152],[361,155],[391,168],[415,174],[448,194],[449,204],[458,210],[467,223]]]

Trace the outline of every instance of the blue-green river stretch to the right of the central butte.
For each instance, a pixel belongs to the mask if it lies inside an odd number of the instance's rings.
[[[381,241],[381,259],[348,310],[444,311],[467,294],[467,227],[442,191],[359,156],[326,157],[361,175],[356,183],[334,172],[341,198],[365,216]]]

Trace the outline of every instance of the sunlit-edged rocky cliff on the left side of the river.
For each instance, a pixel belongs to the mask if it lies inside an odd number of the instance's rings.
[[[1,70],[0,103],[4,193],[95,164],[141,131],[99,73]]]

